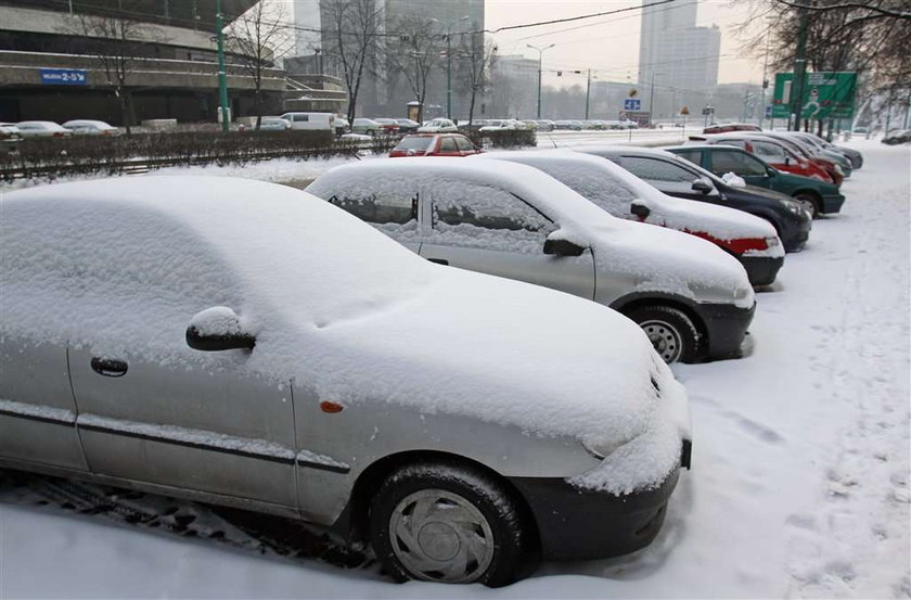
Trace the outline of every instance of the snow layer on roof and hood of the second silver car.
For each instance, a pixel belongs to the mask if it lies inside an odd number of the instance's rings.
[[[659,291],[706,302],[706,294],[724,290],[724,297],[713,301],[730,302],[733,293],[737,306],[749,307],[754,303],[741,264],[714,244],[679,231],[617,219],[553,177],[526,165],[446,157],[373,161],[331,169],[307,191],[325,200],[369,197],[376,181],[389,182],[401,197],[413,197],[415,192],[458,195],[453,187],[467,182],[499,194],[505,190],[554,222],[550,239],[591,247],[600,270],[638,281],[636,290],[630,291]],[[506,243],[502,237],[499,239],[501,244]],[[511,246],[492,250],[505,248]]]

